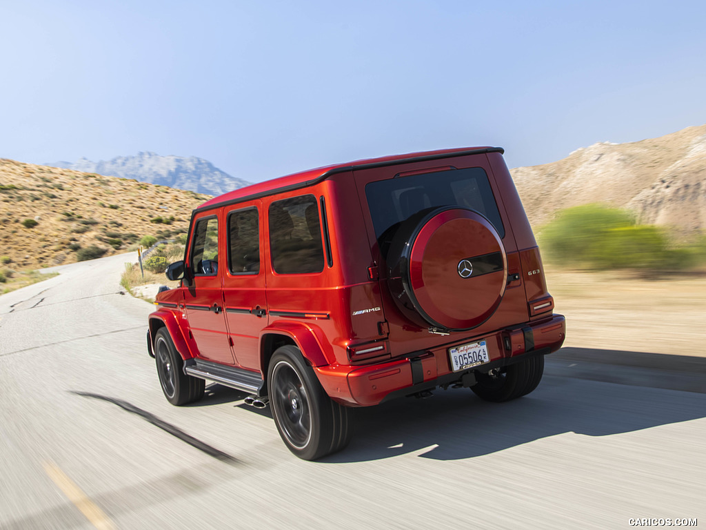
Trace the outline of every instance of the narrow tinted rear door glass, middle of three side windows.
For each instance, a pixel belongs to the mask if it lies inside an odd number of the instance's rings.
[[[228,269],[232,274],[260,271],[257,208],[246,208],[228,215]]]

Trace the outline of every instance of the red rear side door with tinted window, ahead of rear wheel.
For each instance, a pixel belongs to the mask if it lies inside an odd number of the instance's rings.
[[[259,336],[268,324],[262,226],[259,200],[225,208],[225,319],[236,363],[249,370],[260,370]]]

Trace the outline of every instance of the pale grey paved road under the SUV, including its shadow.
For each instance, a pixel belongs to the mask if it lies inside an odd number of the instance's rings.
[[[706,525],[706,394],[636,386],[659,367],[563,352],[523,399],[361,409],[345,452],[305,462],[237,391],[167,403],[145,352],[152,306],[119,286],[130,259],[0,297],[2,529]]]

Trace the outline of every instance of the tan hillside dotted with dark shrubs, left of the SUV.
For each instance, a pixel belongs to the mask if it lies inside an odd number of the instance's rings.
[[[124,252],[143,235],[186,232],[191,210],[206,199],[135,180],[0,159],[0,260],[11,260],[2,266],[30,269],[77,261],[77,252],[91,245],[106,249],[104,255]]]

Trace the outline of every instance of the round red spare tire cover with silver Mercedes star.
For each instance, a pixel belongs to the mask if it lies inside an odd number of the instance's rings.
[[[387,261],[397,306],[421,326],[473,329],[493,315],[505,294],[508,258],[501,237],[469,208],[429,208],[405,220]]]

